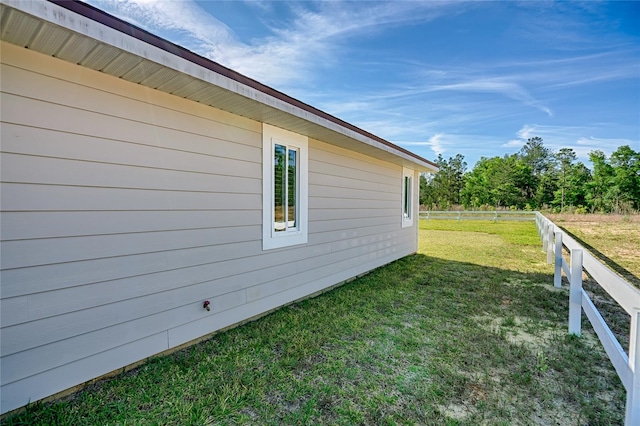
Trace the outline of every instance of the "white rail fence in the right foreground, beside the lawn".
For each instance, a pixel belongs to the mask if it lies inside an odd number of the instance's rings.
[[[640,425],[640,290],[600,263],[542,214],[536,213],[535,220],[547,263],[555,261],[554,286],[561,287],[562,272],[569,280],[569,333],[580,335],[584,310],[627,391],[625,425]],[[562,256],[563,246],[569,251],[569,264]],[[631,316],[628,356],[582,289],[583,269]]]

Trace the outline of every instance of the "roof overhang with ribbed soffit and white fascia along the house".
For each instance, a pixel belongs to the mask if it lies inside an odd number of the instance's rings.
[[[435,163],[181,46],[77,1],[2,0],[0,37],[126,81],[436,172]]]

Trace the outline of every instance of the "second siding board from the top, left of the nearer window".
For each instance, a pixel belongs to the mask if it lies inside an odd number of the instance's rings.
[[[102,89],[94,89],[90,86],[83,86],[77,82],[66,81],[66,79],[51,78],[41,73],[31,72],[12,66],[2,66],[2,91],[12,95],[22,96],[32,99],[41,99],[57,105],[72,107],[76,110],[92,111],[103,116],[111,116],[122,121],[148,123],[160,128],[170,128],[178,131],[201,134],[203,136],[219,135],[221,139],[233,139],[231,134],[254,132],[246,128],[237,127],[221,122],[224,117],[218,118],[221,121],[212,120],[219,110],[210,108],[208,115],[210,118],[202,118],[197,115],[187,114],[178,109],[165,108],[149,102],[149,96],[138,99],[129,96],[116,95]],[[125,82],[116,78],[111,78],[112,83],[119,85]],[[115,80],[115,81],[114,81]],[[91,82],[88,82],[91,84]],[[125,85],[135,86],[130,83]],[[151,90],[145,90],[149,94]],[[173,97],[174,99],[179,99]],[[249,119],[245,119],[249,122]],[[237,118],[234,124],[239,123]],[[254,125],[245,124],[246,127]],[[255,136],[254,136],[255,137]],[[251,137],[244,137],[241,140],[251,140]]]

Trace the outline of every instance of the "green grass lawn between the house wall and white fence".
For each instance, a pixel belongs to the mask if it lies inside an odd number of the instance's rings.
[[[5,423],[622,424],[532,222],[420,226],[416,255]]]

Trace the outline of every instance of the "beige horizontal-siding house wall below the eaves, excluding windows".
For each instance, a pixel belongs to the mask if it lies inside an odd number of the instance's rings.
[[[308,243],[263,251],[260,122],[1,48],[2,412],[416,251],[400,166],[310,139]]]

